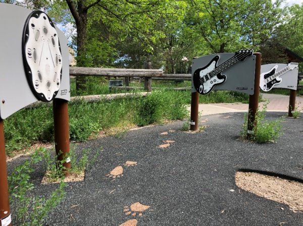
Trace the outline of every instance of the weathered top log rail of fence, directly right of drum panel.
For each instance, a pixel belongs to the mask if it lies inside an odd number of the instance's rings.
[[[161,77],[162,70],[70,67],[71,76]]]

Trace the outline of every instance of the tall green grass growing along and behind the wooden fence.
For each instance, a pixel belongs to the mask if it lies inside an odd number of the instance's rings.
[[[155,83],[155,84],[154,84]],[[131,83],[138,86],[139,81]],[[142,85],[142,84],[141,84]],[[188,116],[186,106],[190,104],[190,91],[174,91],[166,87],[185,87],[190,82],[153,81],[155,89],[147,97],[124,98],[111,101],[87,103],[77,101],[69,104],[70,138],[86,141],[100,131],[129,126],[144,126],[163,123],[167,120],[184,119]],[[71,93],[76,94],[75,80],[71,80]],[[125,90],[115,90],[125,92]],[[142,91],[142,90],[141,90]],[[138,92],[134,90],[133,92]],[[82,94],[108,94],[108,81],[90,77],[87,89]],[[200,103],[248,102],[248,95],[230,91],[214,91],[199,96]],[[4,121],[6,150],[20,150],[36,141],[53,142],[53,108],[44,103],[33,109],[22,109]],[[118,131],[119,132],[119,131]]]

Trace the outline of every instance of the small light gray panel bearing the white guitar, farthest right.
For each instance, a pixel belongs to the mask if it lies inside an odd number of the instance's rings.
[[[285,71],[285,72],[284,72]],[[263,91],[269,91],[264,89],[264,85],[266,84],[266,75],[272,76],[277,75],[280,72],[280,75],[276,77],[273,81],[269,81],[273,83],[270,89],[273,88],[285,88],[285,89],[297,89],[297,80],[299,68],[297,67],[297,63],[290,64],[268,64],[261,66],[261,78],[260,78],[260,88]],[[283,73],[284,72],[284,73]],[[269,78],[269,77],[268,77]],[[276,83],[276,84],[275,84]],[[269,88],[267,87],[267,88]]]

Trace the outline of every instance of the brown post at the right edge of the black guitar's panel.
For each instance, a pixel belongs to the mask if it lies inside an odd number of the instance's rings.
[[[260,52],[254,53],[256,55],[256,70],[255,70],[255,86],[254,95],[249,95],[248,104],[248,120],[247,120],[247,139],[250,139],[256,132],[256,116],[258,114],[259,106],[259,93],[260,93],[260,73],[261,73],[261,61],[262,54]]]

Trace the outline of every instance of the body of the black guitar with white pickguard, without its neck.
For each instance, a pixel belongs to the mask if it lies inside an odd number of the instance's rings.
[[[196,91],[200,94],[207,94],[214,88],[215,85],[219,85],[225,82],[226,76],[218,74],[205,82],[201,82],[204,76],[217,68],[219,56],[217,55],[211,62],[204,68],[198,68],[193,73],[193,84]]]

